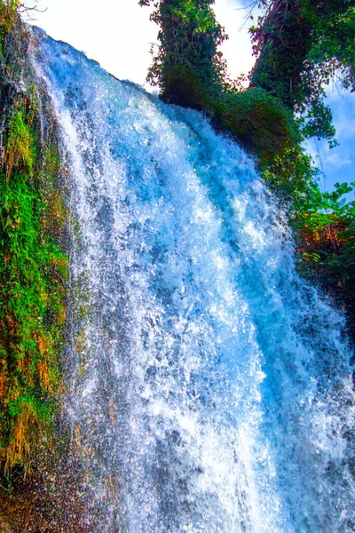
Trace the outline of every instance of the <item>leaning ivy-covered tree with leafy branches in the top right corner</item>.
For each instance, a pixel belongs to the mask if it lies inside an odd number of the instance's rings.
[[[338,76],[355,88],[355,7],[353,0],[262,0],[264,14],[250,28],[258,59],[252,86],[277,95],[303,117],[304,136],[335,146],[324,86]]]

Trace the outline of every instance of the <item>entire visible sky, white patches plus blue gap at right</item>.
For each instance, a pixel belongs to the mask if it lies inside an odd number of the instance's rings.
[[[30,4],[28,0],[27,4]],[[86,53],[119,79],[145,86],[146,71],[151,62],[150,49],[157,43],[158,28],[149,20],[150,8],[140,7],[138,0],[38,0],[32,23],[51,37],[65,41]],[[217,20],[225,27],[229,40],[222,52],[229,74],[247,73],[254,64],[248,36],[250,21],[248,0],[216,0]],[[355,94],[327,90],[340,146],[329,149],[327,142],[310,140],[307,149],[324,171],[322,190],[332,190],[336,181],[355,180]]]

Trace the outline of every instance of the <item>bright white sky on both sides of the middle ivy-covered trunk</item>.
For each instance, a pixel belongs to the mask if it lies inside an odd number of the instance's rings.
[[[242,9],[241,2],[217,0],[215,5],[217,20],[230,35],[223,52],[231,76],[247,71],[254,62],[243,19],[248,9]],[[149,20],[151,8],[140,7],[138,0],[106,0],[99,9],[97,0],[38,0],[37,5],[43,12],[33,12],[33,23],[51,37],[85,52],[119,79],[145,83],[149,51],[158,33]]]

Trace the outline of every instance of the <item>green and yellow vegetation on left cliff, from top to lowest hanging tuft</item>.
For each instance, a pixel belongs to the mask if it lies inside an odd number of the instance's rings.
[[[0,459],[30,468],[51,426],[66,319],[67,211],[17,3],[0,3]]]

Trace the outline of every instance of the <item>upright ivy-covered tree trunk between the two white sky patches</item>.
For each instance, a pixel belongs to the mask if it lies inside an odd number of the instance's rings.
[[[202,109],[207,95],[223,82],[225,64],[217,47],[225,34],[210,7],[213,3],[161,0],[156,5],[152,20],[160,27],[161,44],[148,80],[161,87],[167,102]]]

